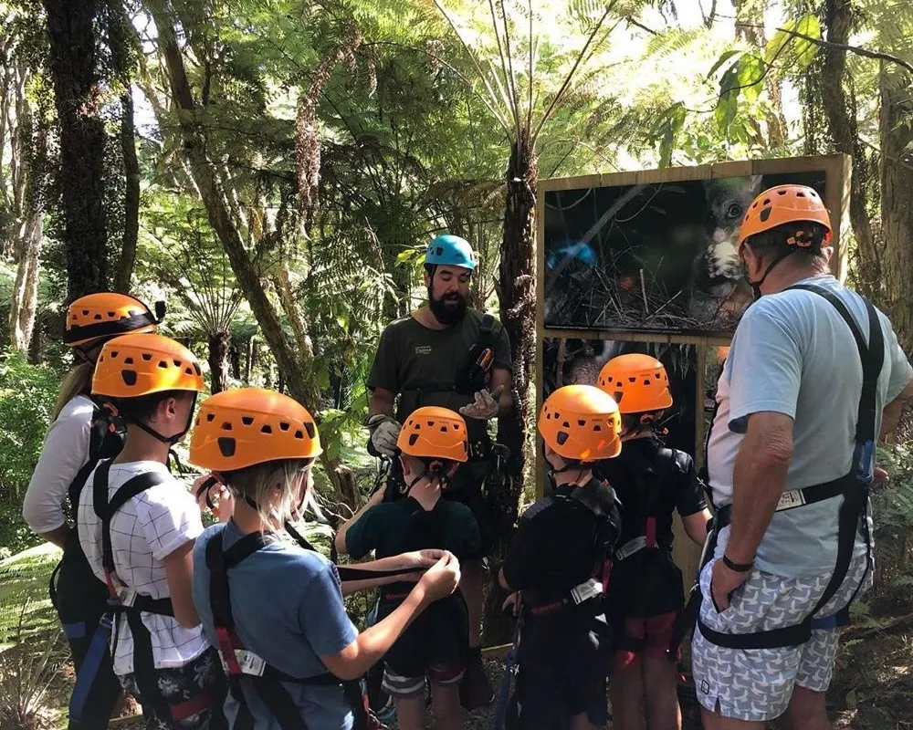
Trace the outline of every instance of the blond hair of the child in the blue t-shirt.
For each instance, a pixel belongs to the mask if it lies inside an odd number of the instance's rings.
[[[297,521],[310,508],[320,516],[320,508],[314,501],[313,489],[309,489],[304,498],[304,505],[299,513],[299,491],[296,483],[301,474],[308,474],[314,463],[313,459],[285,459],[280,462],[254,464],[246,469],[223,474],[228,488],[239,499],[249,499],[257,505],[260,518],[268,523]],[[273,505],[272,489],[277,484],[283,485],[278,505]]]

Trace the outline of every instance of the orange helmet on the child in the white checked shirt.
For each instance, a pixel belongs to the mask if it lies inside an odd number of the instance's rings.
[[[108,340],[92,376],[92,393],[114,399],[204,388],[194,353],[173,339],[153,334]]]

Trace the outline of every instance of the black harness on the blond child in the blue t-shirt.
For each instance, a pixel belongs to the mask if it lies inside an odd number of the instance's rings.
[[[289,535],[294,537],[301,547],[313,549],[297,530],[289,525],[285,527],[289,531]],[[267,705],[281,730],[308,730],[307,722],[299,707],[292,700],[288,689],[282,685],[283,682],[341,685],[344,696],[352,705],[355,727],[360,730],[369,727],[367,705],[362,695],[361,684],[357,680],[342,681],[331,673],[322,673],[313,677],[291,676],[263,662],[253,652],[247,652],[235,630],[228,570],[240,565],[257,550],[276,542],[278,537],[273,534],[252,532],[239,539],[227,550],[224,538],[223,531],[210,539],[206,545],[206,566],[209,568],[209,602],[213,613],[218,650],[226,665],[229,692],[238,704],[238,714],[233,730],[254,730],[256,725],[244,695],[244,683]],[[377,575],[378,573],[374,572],[372,577]],[[242,662],[249,663],[247,660],[250,657],[257,662],[257,671],[253,673],[245,672],[246,667],[242,667]]]

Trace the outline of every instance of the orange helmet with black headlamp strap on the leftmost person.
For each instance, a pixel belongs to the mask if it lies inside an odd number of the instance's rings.
[[[63,341],[71,348],[100,342],[133,332],[154,332],[161,321],[139,299],[102,291],[79,297],[67,309]]]

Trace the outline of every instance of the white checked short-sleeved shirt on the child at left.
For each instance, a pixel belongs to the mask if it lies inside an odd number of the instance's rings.
[[[193,541],[203,532],[200,508],[187,488],[168,473],[159,462],[111,464],[108,498],[132,477],[160,472],[167,480],[131,498],[111,518],[111,551],[114,554],[115,581],[153,599],[169,597],[164,558],[178,547]],[[101,559],[101,520],[95,514],[92,472],[79,499],[79,542],[89,558],[92,571],[105,579]],[[142,612],[142,622],[152,634],[152,659],[156,669],[183,666],[209,646],[203,628],[187,629],[171,616]],[[117,645],[113,645],[114,637]],[[133,637],[125,617],[112,633],[111,652],[114,673],[133,672]]]

